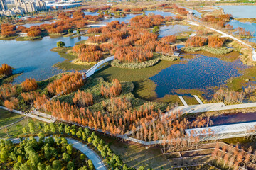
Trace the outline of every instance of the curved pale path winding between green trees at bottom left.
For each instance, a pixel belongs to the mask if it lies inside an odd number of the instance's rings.
[[[38,137],[35,137],[36,140],[38,140]],[[107,170],[105,164],[103,163],[102,159],[100,159],[100,157],[89,147],[87,147],[87,145],[83,144],[82,142],[79,142],[78,140],[73,140],[71,138],[65,137],[68,140],[68,143],[73,145],[73,147],[75,147],[75,149],[80,150],[80,152],[82,152],[83,154],[85,154],[91,161],[92,164],[95,166],[96,170]],[[14,139],[10,139],[11,142],[14,143],[20,143],[21,139],[19,138],[14,138]]]

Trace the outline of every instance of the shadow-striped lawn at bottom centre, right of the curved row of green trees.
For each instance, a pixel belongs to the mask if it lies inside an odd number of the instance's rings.
[[[134,167],[145,166],[145,169],[152,168],[154,170],[171,169],[166,156],[161,153],[159,147],[150,147],[146,149],[143,145],[131,142],[119,142],[114,137],[102,135],[98,133],[100,138],[110,144],[110,148],[115,154],[119,154],[124,164]]]

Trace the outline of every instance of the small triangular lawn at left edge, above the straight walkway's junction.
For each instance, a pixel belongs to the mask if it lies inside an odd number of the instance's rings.
[[[0,108],[0,127],[14,123],[17,120],[20,120],[22,117],[23,115],[19,115],[17,113],[6,111]]]

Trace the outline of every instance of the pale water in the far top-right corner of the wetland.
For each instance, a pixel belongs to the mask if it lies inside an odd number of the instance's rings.
[[[225,14],[232,14],[234,18],[256,18],[256,6],[218,6]]]

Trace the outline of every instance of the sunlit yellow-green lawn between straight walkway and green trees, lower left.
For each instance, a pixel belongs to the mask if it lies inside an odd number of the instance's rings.
[[[28,123],[30,123],[30,122],[35,123],[35,125],[36,125],[36,123],[43,123],[40,120],[34,120],[32,118],[26,117],[23,120],[21,120],[20,122],[15,123],[14,125],[11,125],[7,128],[9,137],[18,137],[18,135],[23,134],[22,128],[26,127],[28,129]],[[38,131],[38,130],[36,130],[36,131]],[[4,132],[4,130],[2,129],[2,130],[0,130],[0,138],[4,138],[4,137],[8,137],[8,136],[7,136],[6,132]]]

